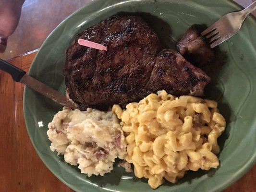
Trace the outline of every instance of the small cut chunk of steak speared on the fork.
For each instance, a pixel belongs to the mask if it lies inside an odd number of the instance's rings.
[[[196,28],[189,27],[176,45],[179,52],[196,66],[202,66],[213,58],[213,51]]]

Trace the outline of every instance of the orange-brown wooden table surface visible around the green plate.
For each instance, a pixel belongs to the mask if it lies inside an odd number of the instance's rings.
[[[37,50],[9,60],[28,71]],[[0,192],[73,192],[43,164],[26,132],[24,85],[0,71]],[[256,166],[224,192],[256,192]]]

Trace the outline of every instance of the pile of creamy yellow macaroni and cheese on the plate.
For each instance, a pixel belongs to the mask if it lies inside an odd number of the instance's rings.
[[[164,179],[175,183],[187,170],[219,166],[217,139],[226,121],[217,102],[195,96],[174,97],[164,90],[150,94],[126,110],[113,112],[121,119],[127,142],[126,161],[134,174],[147,178],[153,189]]]

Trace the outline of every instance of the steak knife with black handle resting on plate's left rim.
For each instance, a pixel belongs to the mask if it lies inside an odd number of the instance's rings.
[[[10,75],[12,75],[12,79],[15,82],[20,82],[25,84],[26,86],[34,89],[38,93],[49,97],[53,101],[68,107],[68,108],[74,108],[74,105],[71,101],[67,99],[66,96],[62,95],[58,91],[52,89],[46,84],[43,84],[42,82],[38,81],[37,79],[29,76],[25,71],[22,69],[12,65],[11,63],[1,60],[0,59],[0,70],[4,72],[8,72]]]

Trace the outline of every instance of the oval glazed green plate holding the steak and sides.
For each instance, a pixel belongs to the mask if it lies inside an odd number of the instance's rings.
[[[29,74],[64,93],[62,68],[65,51],[86,28],[119,12],[136,12],[157,32],[166,48],[174,48],[192,24],[207,24],[222,15],[241,10],[231,0],[94,0],[65,19],[46,39]],[[215,59],[205,71],[212,78],[206,97],[219,101],[227,128],[219,138],[220,166],[188,172],[175,185],[165,182],[155,192],[216,192],[227,188],[256,163],[256,20],[246,18],[242,29],[216,48]],[[153,191],[146,180],[136,179],[115,165],[104,177],[87,177],[49,149],[47,125],[61,106],[25,88],[24,117],[37,154],[63,183],[77,192]],[[43,126],[42,126],[43,125]]]

